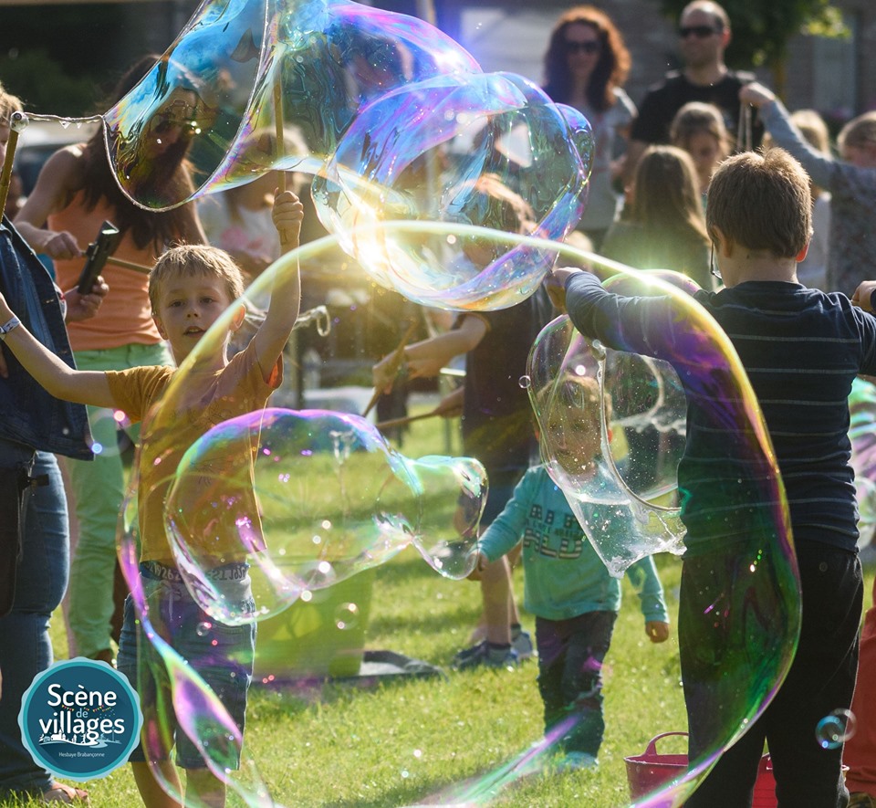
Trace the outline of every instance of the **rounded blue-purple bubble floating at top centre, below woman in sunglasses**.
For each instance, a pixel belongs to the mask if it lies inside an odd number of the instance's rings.
[[[376,225],[425,220],[563,239],[583,211],[580,155],[590,146],[586,121],[567,114],[508,73],[442,76],[387,93],[361,110],[316,179],[320,218],[373,278],[406,298],[454,309],[514,305],[556,252],[494,251],[464,233],[417,243]]]

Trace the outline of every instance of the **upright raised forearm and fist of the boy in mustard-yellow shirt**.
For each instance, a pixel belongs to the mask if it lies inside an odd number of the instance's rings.
[[[301,222],[304,219],[304,205],[298,197],[291,191],[277,192],[274,197],[273,218],[284,251],[297,249]],[[300,308],[301,273],[296,263],[294,268],[289,267],[276,274],[265,321],[253,338],[255,355],[266,373],[270,372],[283,352],[283,346],[295,327]]]

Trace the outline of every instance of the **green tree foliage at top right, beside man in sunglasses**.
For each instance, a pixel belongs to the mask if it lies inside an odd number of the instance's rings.
[[[663,12],[676,20],[690,0],[661,0]],[[775,65],[785,57],[787,43],[797,34],[848,37],[840,9],[830,0],[720,0],[730,17],[733,39],[727,64],[751,69]]]

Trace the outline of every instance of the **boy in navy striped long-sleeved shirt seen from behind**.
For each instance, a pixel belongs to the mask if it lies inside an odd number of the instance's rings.
[[[802,618],[797,654],[775,698],[686,804],[750,805],[766,740],[780,805],[837,808],[849,799],[841,743],[822,748],[817,727],[850,707],[858,664],[862,581],[847,399],[858,373],[876,372],[876,319],[844,295],[798,283],[797,263],[811,234],[810,198],[808,176],[787,152],[727,160],[714,174],[706,211],[725,289],[700,291],[695,299],[733,342],[764,414],[787,491]],[[768,548],[757,536],[771,512],[780,518],[780,503],[765,498],[769,487],[752,472],[744,429],[720,417],[722,371],[703,382],[703,369],[676,353],[677,341],[691,334],[672,299],[613,295],[587,272],[558,269],[555,279],[565,285],[568,314],[581,333],[673,362],[685,385],[679,645],[690,755],[702,761],[720,748],[727,729],[740,729],[732,725],[738,710],[721,714],[739,695],[728,690],[724,698],[723,688],[738,676],[740,660],[741,680],[746,670],[756,676],[759,657],[771,653],[770,621],[777,617],[785,621],[774,624],[777,636],[795,633],[794,610],[776,614],[781,579],[752,589],[756,552]],[[759,600],[774,594],[774,603]],[[740,617],[745,627],[734,632]]]

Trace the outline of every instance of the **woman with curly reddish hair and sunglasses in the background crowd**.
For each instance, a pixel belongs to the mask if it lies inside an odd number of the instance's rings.
[[[630,52],[609,16],[591,5],[568,9],[557,20],[545,54],[545,92],[584,113],[593,129],[589,196],[579,230],[600,248],[618,207],[612,182],[620,171],[636,108],[621,89]]]

